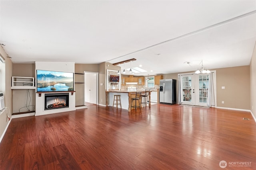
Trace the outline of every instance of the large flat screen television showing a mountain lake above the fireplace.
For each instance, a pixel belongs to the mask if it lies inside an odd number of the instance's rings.
[[[74,91],[74,73],[36,70],[37,92]]]

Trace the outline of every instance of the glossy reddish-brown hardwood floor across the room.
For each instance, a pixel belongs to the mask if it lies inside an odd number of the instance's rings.
[[[90,106],[12,119],[0,143],[1,170],[216,170],[221,160],[226,169],[256,169],[256,123],[249,112]]]

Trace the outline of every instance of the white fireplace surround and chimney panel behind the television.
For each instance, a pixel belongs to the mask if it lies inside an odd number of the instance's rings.
[[[73,72],[74,73],[75,63],[74,62],[36,61],[35,68],[36,68],[36,70],[50,70],[50,71],[62,71],[62,72]],[[36,70],[35,70],[35,72],[36,72]],[[75,89],[74,89],[74,91],[75,91]],[[58,93],[61,93],[61,92],[58,92]],[[76,110],[76,104],[75,104],[76,93],[74,92],[73,95],[71,92],[64,92],[64,93],[69,93],[69,95],[68,95],[69,96],[69,107],[59,108],[59,109],[50,109],[50,110],[44,110],[44,98],[45,98],[44,94],[46,94],[46,93],[42,92],[40,97],[39,97],[39,93],[36,93],[35,116]],[[47,93],[47,94],[52,94],[52,93]]]

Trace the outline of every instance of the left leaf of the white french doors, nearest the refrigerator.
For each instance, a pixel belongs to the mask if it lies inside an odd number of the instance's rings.
[[[180,81],[182,104],[195,105],[194,74],[181,75]]]

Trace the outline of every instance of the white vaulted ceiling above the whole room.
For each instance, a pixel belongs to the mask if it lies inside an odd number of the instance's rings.
[[[250,64],[256,0],[5,1],[0,43],[13,63],[142,65],[138,76]],[[152,70],[152,72],[150,71]],[[126,74],[130,74],[126,71]]]

